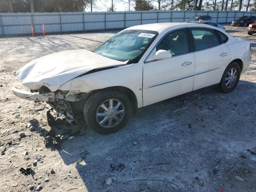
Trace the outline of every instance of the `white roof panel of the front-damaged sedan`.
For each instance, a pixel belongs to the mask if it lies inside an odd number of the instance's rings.
[[[181,27],[202,27],[200,23],[181,23],[181,22],[173,22],[173,23],[152,23],[152,24],[144,24],[144,25],[136,25],[126,30],[151,30],[151,31],[160,31],[167,28],[181,28]],[[211,28],[210,26],[208,26]]]

